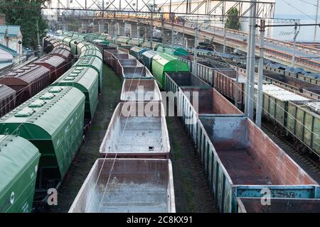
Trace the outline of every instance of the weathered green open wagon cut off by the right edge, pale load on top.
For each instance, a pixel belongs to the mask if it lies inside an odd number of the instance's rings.
[[[312,103],[320,101],[289,101],[287,128],[320,157],[320,115],[307,107]]]

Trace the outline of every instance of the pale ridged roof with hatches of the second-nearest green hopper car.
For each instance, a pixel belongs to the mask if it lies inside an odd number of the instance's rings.
[[[9,128],[9,133],[20,133],[23,138],[50,139],[82,99],[84,94],[73,87],[48,87],[0,118],[0,133]]]

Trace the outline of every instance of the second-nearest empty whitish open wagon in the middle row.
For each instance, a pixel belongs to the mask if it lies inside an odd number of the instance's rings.
[[[169,151],[163,104],[118,104],[100,146],[103,157],[168,158]]]

